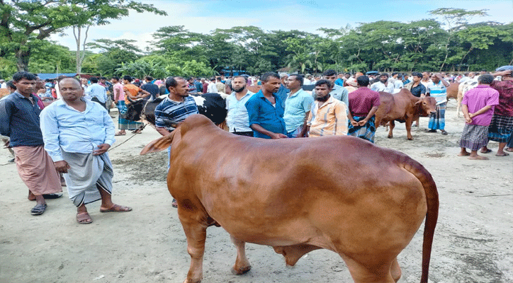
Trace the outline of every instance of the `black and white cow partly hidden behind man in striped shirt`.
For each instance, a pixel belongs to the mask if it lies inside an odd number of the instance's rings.
[[[215,125],[225,122],[227,115],[226,96],[222,96],[219,93],[189,93],[189,95],[194,98],[201,115],[208,117]],[[127,106],[128,111],[124,118],[132,121],[144,119],[154,126],[155,108],[165,98],[166,96],[159,96],[153,101],[134,100]]]

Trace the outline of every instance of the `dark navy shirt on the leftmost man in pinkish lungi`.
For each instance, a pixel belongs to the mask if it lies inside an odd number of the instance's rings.
[[[11,138],[11,146],[42,146],[43,134],[39,127],[41,107],[39,98],[30,99],[18,91],[0,100],[0,134]]]

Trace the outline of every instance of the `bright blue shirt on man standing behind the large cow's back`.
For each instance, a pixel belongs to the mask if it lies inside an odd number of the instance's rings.
[[[261,90],[247,100],[245,105],[249,117],[249,127],[253,124],[257,124],[269,132],[287,134],[285,121],[283,120],[285,103],[279,96],[276,96],[276,94],[273,93],[273,96],[276,101],[275,105],[272,105],[271,102],[265,98]],[[268,135],[261,134],[257,131],[253,131],[253,137],[271,139]]]

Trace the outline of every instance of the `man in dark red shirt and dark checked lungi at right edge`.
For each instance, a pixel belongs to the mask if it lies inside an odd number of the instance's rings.
[[[495,156],[508,156],[504,152],[504,146],[512,137],[513,132],[513,78],[512,70],[499,71],[493,76],[502,76],[502,81],[493,81],[490,85],[499,91],[499,105],[495,106],[492,122],[488,127],[488,139],[499,142],[499,149]],[[487,154],[491,152],[487,146],[483,146],[481,153]]]

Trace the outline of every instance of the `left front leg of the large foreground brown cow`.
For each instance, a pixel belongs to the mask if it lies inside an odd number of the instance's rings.
[[[184,283],[198,283],[203,278],[203,253],[207,236],[207,225],[201,219],[206,217],[191,215],[191,212],[184,212],[179,207],[179,218],[187,237],[187,252],[191,255],[191,267]]]

